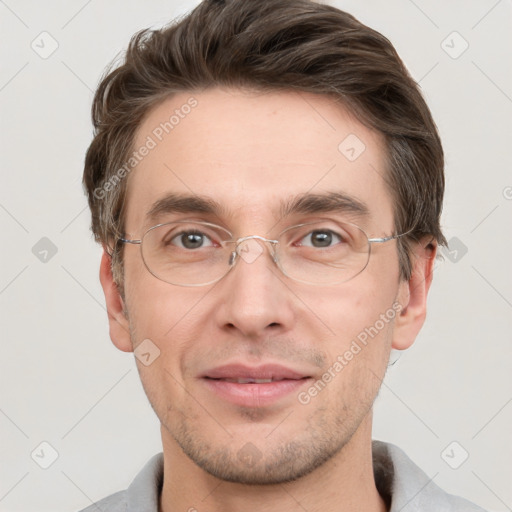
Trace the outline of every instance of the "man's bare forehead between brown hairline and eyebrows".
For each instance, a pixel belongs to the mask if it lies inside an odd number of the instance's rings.
[[[256,228],[278,220],[294,198],[333,192],[367,206],[369,225],[392,229],[383,138],[326,96],[223,88],[180,93],[148,113],[133,150],[130,232],[169,194],[211,199],[231,227]]]

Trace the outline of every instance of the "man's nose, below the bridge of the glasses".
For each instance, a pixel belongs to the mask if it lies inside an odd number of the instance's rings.
[[[217,325],[245,337],[282,333],[294,322],[293,294],[263,240],[241,239],[234,268],[218,284]]]

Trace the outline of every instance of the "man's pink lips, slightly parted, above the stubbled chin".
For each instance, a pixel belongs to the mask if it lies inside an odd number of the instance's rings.
[[[272,382],[241,384],[225,379],[274,379]],[[230,364],[201,375],[204,385],[222,400],[244,407],[264,407],[284,399],[309,383],[311,376],[278,364],[256,367]]]

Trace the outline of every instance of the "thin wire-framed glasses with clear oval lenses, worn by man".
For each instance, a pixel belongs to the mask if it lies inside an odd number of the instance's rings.
[[[180,220],[149,228],[139,244],[146,268],[156,278],[177,286],[206,286],[222,279],[239,261],[253,263],[269,247],[281,272],[301,283],[334,285],[349,281],[368,265],[371,244],[399,235],[368,238],[349,222],[320,219],[286,228],[275,240],[258,235],[236,240],[209,222]]]

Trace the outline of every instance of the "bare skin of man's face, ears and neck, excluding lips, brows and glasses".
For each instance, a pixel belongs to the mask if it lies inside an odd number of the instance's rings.
[[[171,191],[215,199],[223,206],[219,216],[193,216],[222,223],[236,237],[271,238],[309,218],[280,218],[282,198],[341,190],[368,206],[361,227],[369,237],[393,234],[382,138],[327,97],[221,88],[182,93],[148,114],[135,146],[192,95],[198,106],[129,177],[127,236],[143,235],[151,226],[145,214]],[[352,162],[338,150],[349,134],[366,146]],[[123,297],[103,256],[113,343],[133,351],[149,338],[160,350],[151,365],[137,364],[161,421],[162,512],[239,511],[249,504],[254,511],[386,510],[372,470],[372,405],[391,348],[408,348],[424,322],[436,253],[429,242],[414,248],[410,281],[399,280],[391,241],[373,244],[366,269],[341,285],[292,281],[266,251],[250,264],[239,261],[218,283],[192,288],[156,279],[140,247],[127,245]],[[401,312],[308,404],[291,393],[268,406],[242,407],[198,378],[236,361],[280,363],[321,379],[395,302]],[[249,462],[241,456],[247,450]]]

